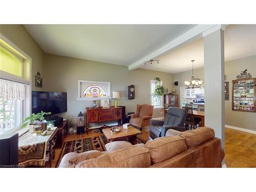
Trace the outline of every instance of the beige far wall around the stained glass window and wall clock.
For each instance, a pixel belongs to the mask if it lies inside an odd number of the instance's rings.
[[[97,61],[45,54],[45,89],[68,93],[68,114],[77,116],[85,112],[92,101],[77,101],[78,80],[110,81],[111,93],[120,91],[119,105],[126,106],[127,112],[135,112],[136,104],[150,104],[150,80],[160,77],[163,86],[173,89],[174,75],[151,70],[136,69],[129,71],[125,66],[112,65]],[[127,86],[135,85],[135,99],[127,99]],[[113,100],[111,100],[113,105]],[[154,110],[154,117],[161,116],[162,110]]]

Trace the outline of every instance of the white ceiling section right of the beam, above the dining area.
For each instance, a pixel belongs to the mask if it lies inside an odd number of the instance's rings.
[[[224,31],[225,61],[256,55],[256,25],[228,25]],[[203,39],[194,41],[173,52],[156,59],[157,64],[147,64],[142,69],[179,73],[192,70],[191,60],[195,59],[194,69],[204,66]]]

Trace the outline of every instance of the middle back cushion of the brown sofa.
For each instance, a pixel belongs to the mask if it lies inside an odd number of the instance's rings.
[[[185,139],[179,136],[159,137],[147,141],[145,147],[150,151],[152,164],[169,159],[187,149]]]

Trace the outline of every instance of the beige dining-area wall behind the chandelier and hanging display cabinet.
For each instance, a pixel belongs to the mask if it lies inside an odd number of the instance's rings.
[[[256,131],[256,113],[232,111],[232,80],[236,79],[240,71],[248,69],[252,77],[256,77],[256,55],[225,62],[225,81],[229,82],[229,100],[225,100],[225,124]],[[204,68],[194,70],[195,78],[204,81]],[[191,70],[174,74],[174,81],[179,81],[175,86],[180,95],[179,87],[191,76]],[[203,82],[204,84],[204,82]]]

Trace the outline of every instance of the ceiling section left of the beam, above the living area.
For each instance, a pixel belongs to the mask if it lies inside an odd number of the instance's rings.
[[[129,66],[196,25],[24,25],[45,53]]]

